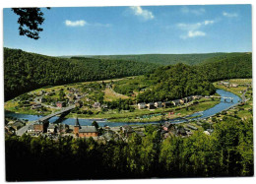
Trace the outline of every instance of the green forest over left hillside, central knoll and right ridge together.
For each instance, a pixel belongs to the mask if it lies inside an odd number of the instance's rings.
[[[184,54],[184,57],[188,55]],[[196,54],[190,55],[192,57]],[[252,77],[251,53],[223,53],[211,56],[212,58],[207,57],[204,61],[204,57],[201,57],[200,65],[179,63],[162,66],[151,62],[50,57],[20,49],[4,48],[5,100],[46,86],[138,75],[145,76],[140,80],[136,78],[136,82],[122,88],[118,89],[116,86],[115,90],[127,94],[150,86],[150,91],[138,96],[139,101],[169,100],[192,94],[211,94],[215,92],[215,88],[210,82]]]

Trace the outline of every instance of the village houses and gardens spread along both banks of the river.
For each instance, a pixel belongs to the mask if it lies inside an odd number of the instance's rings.
[[[232,91],[240,90],[238,87],[241,88],[241,92],[244,92],[246,88],[248,88],[248,85],[246,84],[239,84],[236,85],[234,83],[228,83],[228,82],[219,82],[218,84],[219,88],[234,88]],[[48,92],[47,92],[48,91]],[[66,91],[66,92],[63,92]],[[91,90],[92,91],[92,90]],[[66,105],[74,105],[75,108],[80,109],[84,103],[83,103],[83,97],[87,96],[87,94],[80,92],[79,89],[76,88],[66,88],[65,90],[61,90],[59,92],[63,92],[63,96],[67,97],[68,101],[57,101],[55,103],[51,102],[49,104],[49,101],[47,100],[47,96],[51,96],[52,92],[55,92],[55,90],[51,89],[49,90],[40,90],[38,92],[29,92],[28,95],[30,98],[27,98],[28,100],[37,101],[31,102],[30,108],[31,109],[39,109],[43,110],[43,108],[52,108],[55,111],[64,109]],[[33,96],[33,98],[32,98]],[[195,103],[195,100],[202,100],[202,99],[209,99],[213,98],[215,96],[202,96],[202,95],[191,95],[188,97],[184,97],[182,99],[175,99],[171,101],[157,101],[157,102],[150,102],[150,103],[138,103],[137,109],[143,110],[143,109],[149,109],[149,110],[155,110],[158,108],[168,108],[168,107],[179,107],[179,108],[185,108],[189,105],[192,105]],[[219,97],[219,96],[216,96]],[[22,97],[20,97],[21,99]],[[19,100],[19,99],[14,99]],[[87,101],[90,101],[92,106],[91,108],[107,108],[107,106],[103,106],[99,102],[93,102],[92,99],[89,97],[86,98]],[[72,101],[72,102],[71,102]],[[28,104],[28,102],[26,102]],[[30,102],[29,102],[30,103]],[[88,104],[88,103],[87,103]],[[67,108],[67,107],[66,107]],[[241,107],[232,107],[229,110],[228,113],[230,114],[231,111],[233,112],[233,115],[237,114],[237,111],[241,110]],[[72,111],[72,110],[71,110]],[[174,114],[173,111],[169,112],[167,115]],[[80,125],[79,119],[74,119],[73,125],[67,125],[64,123],[49,123],[49,121],[32,121],[28,122],[28,120],[22,120],[17,118],[11,118],[6,117],[5,122],[5,131],[7,134],[14,134],[18,136],[22,136],[23,134],[31,135],[32,137],[37,136],[44,136],[49,137],[51,139],[58,139],[59,137],[65,137],[65,136],[71,136],[74,138],[93,138],[98,141],[109,141],[111,139],[122,139],[126,140],[127,138],[131,137],[133,134],[138,135],[140,137],[145,136],[145,127],[146,126],[154,126],[157,127],[157,129],[160,131],[160,135],[162,139],[165,139],[169,136],[181,136],[181,137],[189,137],[193,134],[194,131],[202,131],[207,135],[211,135],[214,132],[213,124],[217,121],[222,121],[223,116],[226,114],[226,112],[222,112],[221,114],[216,114],[213,117],[209,117],[206,119],[196,120],[196,121],[190,121],[189,118],[186,119],[185,123],[181,124],[175,124],[171,123],[170,121],[162,121],[162,123],[159,124],[151,124],[151,125],[123,125],[118,127],[109,127],[107,125],[103,127],[99,127],[94,121],[92,123],[92,126],[83,126]],[[153,114],[155,115],[155,114]],[[159,115],[159,114],[156,114]],[[161,115],[161,114],[160,114]],[[143,116],[149,116],[149,115],[143,115]]]

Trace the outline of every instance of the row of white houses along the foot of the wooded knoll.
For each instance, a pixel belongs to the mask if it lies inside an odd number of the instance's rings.
[[[138,103],[138,108],[139,109],[144,109],[144,108],[149,108],[149,109],[155,109],[155,108],[160,108],[160,107],[170,107],[170,106],[177,106],[177,105],[181,105],[184,103],[187,103],[189,101],[192,101],[193,99],[200,99],[202,98],[202,95],[190,95],[181,99],[174,99],[172,101],[165,101],[165,102],[161,102],[161,101],[157,101],[157,102],[150,102],[150,103]]]

